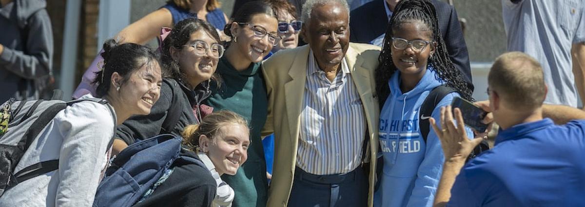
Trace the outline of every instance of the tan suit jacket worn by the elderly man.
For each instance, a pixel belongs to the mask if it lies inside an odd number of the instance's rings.
[[[279,51],[263,64],[269,96],[268,118],[263,134],[274,132],[274,167],[267,206],[287,206],[292,188],[301,123],[301,107],[307,80],[309,46]],[[369,199],[372,206],[376,152],[378,151],[378,116],[374,70],[378,67],[380,48],[370,44],[350,43],[345,54],[352,80],[364,106],[369,140],[364,161],[370,162]]]

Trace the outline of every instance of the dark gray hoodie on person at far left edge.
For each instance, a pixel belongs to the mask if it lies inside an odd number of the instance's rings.
[[[0,103],[38,98],[37,82],[51,74],[53,32],[44,0],[0,6]]]

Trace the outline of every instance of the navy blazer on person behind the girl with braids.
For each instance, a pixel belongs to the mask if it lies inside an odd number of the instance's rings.
[[[432,0],[439,16],[439,30],[445,40],[449,57],[457,70],[461,71],[467,87],[473,91],[472,72],[469,66],[469,53],[463,37],[459,18],[453,6],[445,2]],[[388,17],[384,9],[384,0],[374,0],[364,4],[350,13],[350,41],[370,43],[380,35],[386,33]]]

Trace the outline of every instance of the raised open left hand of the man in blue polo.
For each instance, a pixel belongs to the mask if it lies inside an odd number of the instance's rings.
[[[436,125],[435,119],[431,118],[429,122],[441,140],[445,162],[465,163],[467,156],[477,144],[481,143],[482,137],[472,140],[467,138],[465,123],[459,108],[455,108],[455,118],[457,126],[453,122],[451,106],[447,106],[446,108],[441,107],[441,129]]]

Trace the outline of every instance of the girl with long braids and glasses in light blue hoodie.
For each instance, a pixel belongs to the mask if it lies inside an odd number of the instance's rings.
[[[435,132],[429,132],[426,142],[422,137],[419,109],[439,85],[456,92],[439,102],[431,114],[435,119],[441,106],[450,104],[455,96],[470,100],[472,91],[449,59],[431,1],[400,1],[388,24],[376,70],[376,91],[383,105],[380,147],[384,173],[374,203],[432,206],[444,158]]]

